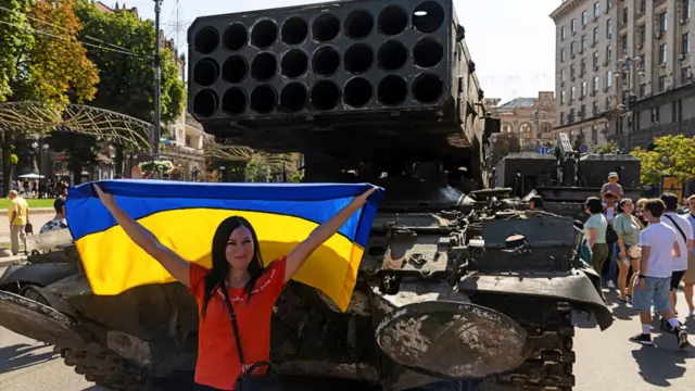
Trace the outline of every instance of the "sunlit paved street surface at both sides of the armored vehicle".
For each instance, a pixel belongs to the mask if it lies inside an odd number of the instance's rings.
[[[607,297],[615,302],[612,292]],[[684,314],[686,306],[682,294],[679,304],[679,311]],[[610,306],[616,320],[605,332],[586,328],[589,325],[584,316],[578,314],[574,317],[578,324],[574,391],[649,391],[665,387],[670,391],[695,389],[695,348],[679,351],[673,336],[660,336],[659,332],[655,333],[658,346],[633,344],[628,337],[637,332],[640,326],[632,311],[616,304]],[[693,319],[687,321],[687,326],[695,330]],[[695,342],[695,337],[691,341]],[[102,390],[64,366],[60,356],[51,352],[52,346],[43,346],[0,328],[0,391]]]

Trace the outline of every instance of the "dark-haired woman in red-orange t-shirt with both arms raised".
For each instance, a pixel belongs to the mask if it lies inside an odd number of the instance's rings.
[[[189,288],[199,306],[199,345],[195,390],[240,390],[267,363],[270,353],[270,316],[275,301],[304,262],[359,211],[371,188],[355,197],[286,256],[264,267],[258,239],[241,216],[224,219],[212,242],[212,268],[191,263],[163,245],[94,185],[103,205],[127,236]]]

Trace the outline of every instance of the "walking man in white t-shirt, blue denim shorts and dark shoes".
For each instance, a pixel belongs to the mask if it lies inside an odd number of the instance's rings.
[[[681,328],[671,311],[670,288],[672,256],[680,255],[681,249],[673,228],[661,223],[666,210],[664,201],[653,199],[644,205],[644,217],[649,226],[640,232],[642,258],[640,274],[635,281],[632,308],[640,312],[642,332],[630,337],[630,341],[650,345],[652,342],[652,303],[661,316],[668,319],[680,349],[687,346],[687,333]]]

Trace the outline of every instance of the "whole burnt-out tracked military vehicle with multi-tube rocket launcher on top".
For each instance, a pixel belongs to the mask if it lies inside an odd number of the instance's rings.
[[[200,17],[189,43],[189,106],[218,142],[302,152],[306,181],[351,169],[386,188],[348,311],[294,281],[279,298],[285,390],[573,388],[573,312],[612,318],[570,218],[450,186],[485,187],[498,131],[451,0]],[[198,312],[182,285],[99,297],[74,248],[48,256],[0,277],[0,326],[108,389],[190,389]]]

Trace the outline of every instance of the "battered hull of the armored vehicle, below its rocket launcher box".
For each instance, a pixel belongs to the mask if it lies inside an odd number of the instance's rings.
[[[573,311],[611,323],[572,253],[572,220],[462,205],[452,188],[409,181],[433,203],[384,200],[345,313],[298,282],[279,298],[271,360],[287,389],[571,390]],[[54,344],[108,389],[190,389],[198,311],[186,288],[99,297],[73,261],[11,267],[0,326]]]

